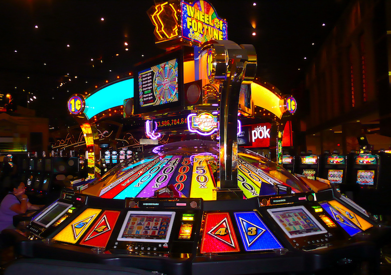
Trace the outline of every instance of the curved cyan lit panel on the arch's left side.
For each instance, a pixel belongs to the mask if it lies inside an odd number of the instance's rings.
[[[123,105],[124,99],[134,97],[133,78],[115,82],[91,94],[84,99],[84,114],[87,119],[117,106]]]

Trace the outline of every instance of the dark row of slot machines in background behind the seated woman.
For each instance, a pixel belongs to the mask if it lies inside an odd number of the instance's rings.
[[[84,160],[78,157],[24,157],[19,174],[29,197],[47,196],[55,191],[58,197],[67,181],[85,177],[85,168]]]

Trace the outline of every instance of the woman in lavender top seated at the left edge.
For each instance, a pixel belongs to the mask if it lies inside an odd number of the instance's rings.
[[[27,195],[24,194],[23,182],[14,179],[9,188],[10,192],[5,195],[0,204],[0,232],[3,229],[13,229],[13,216],[23,214],[27,210],[37,210],[40,205],[31,204]]]

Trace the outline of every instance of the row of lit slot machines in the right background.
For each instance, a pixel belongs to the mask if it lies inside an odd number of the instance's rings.
[[[284,155],[283,166],[309,179],[329,180],[373,214],[390,214],[390,153]]]

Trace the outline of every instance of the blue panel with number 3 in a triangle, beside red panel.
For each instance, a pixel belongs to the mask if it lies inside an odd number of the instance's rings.
[[[246,251],[283,248],[255,212],[235,212],[234,215]]]

